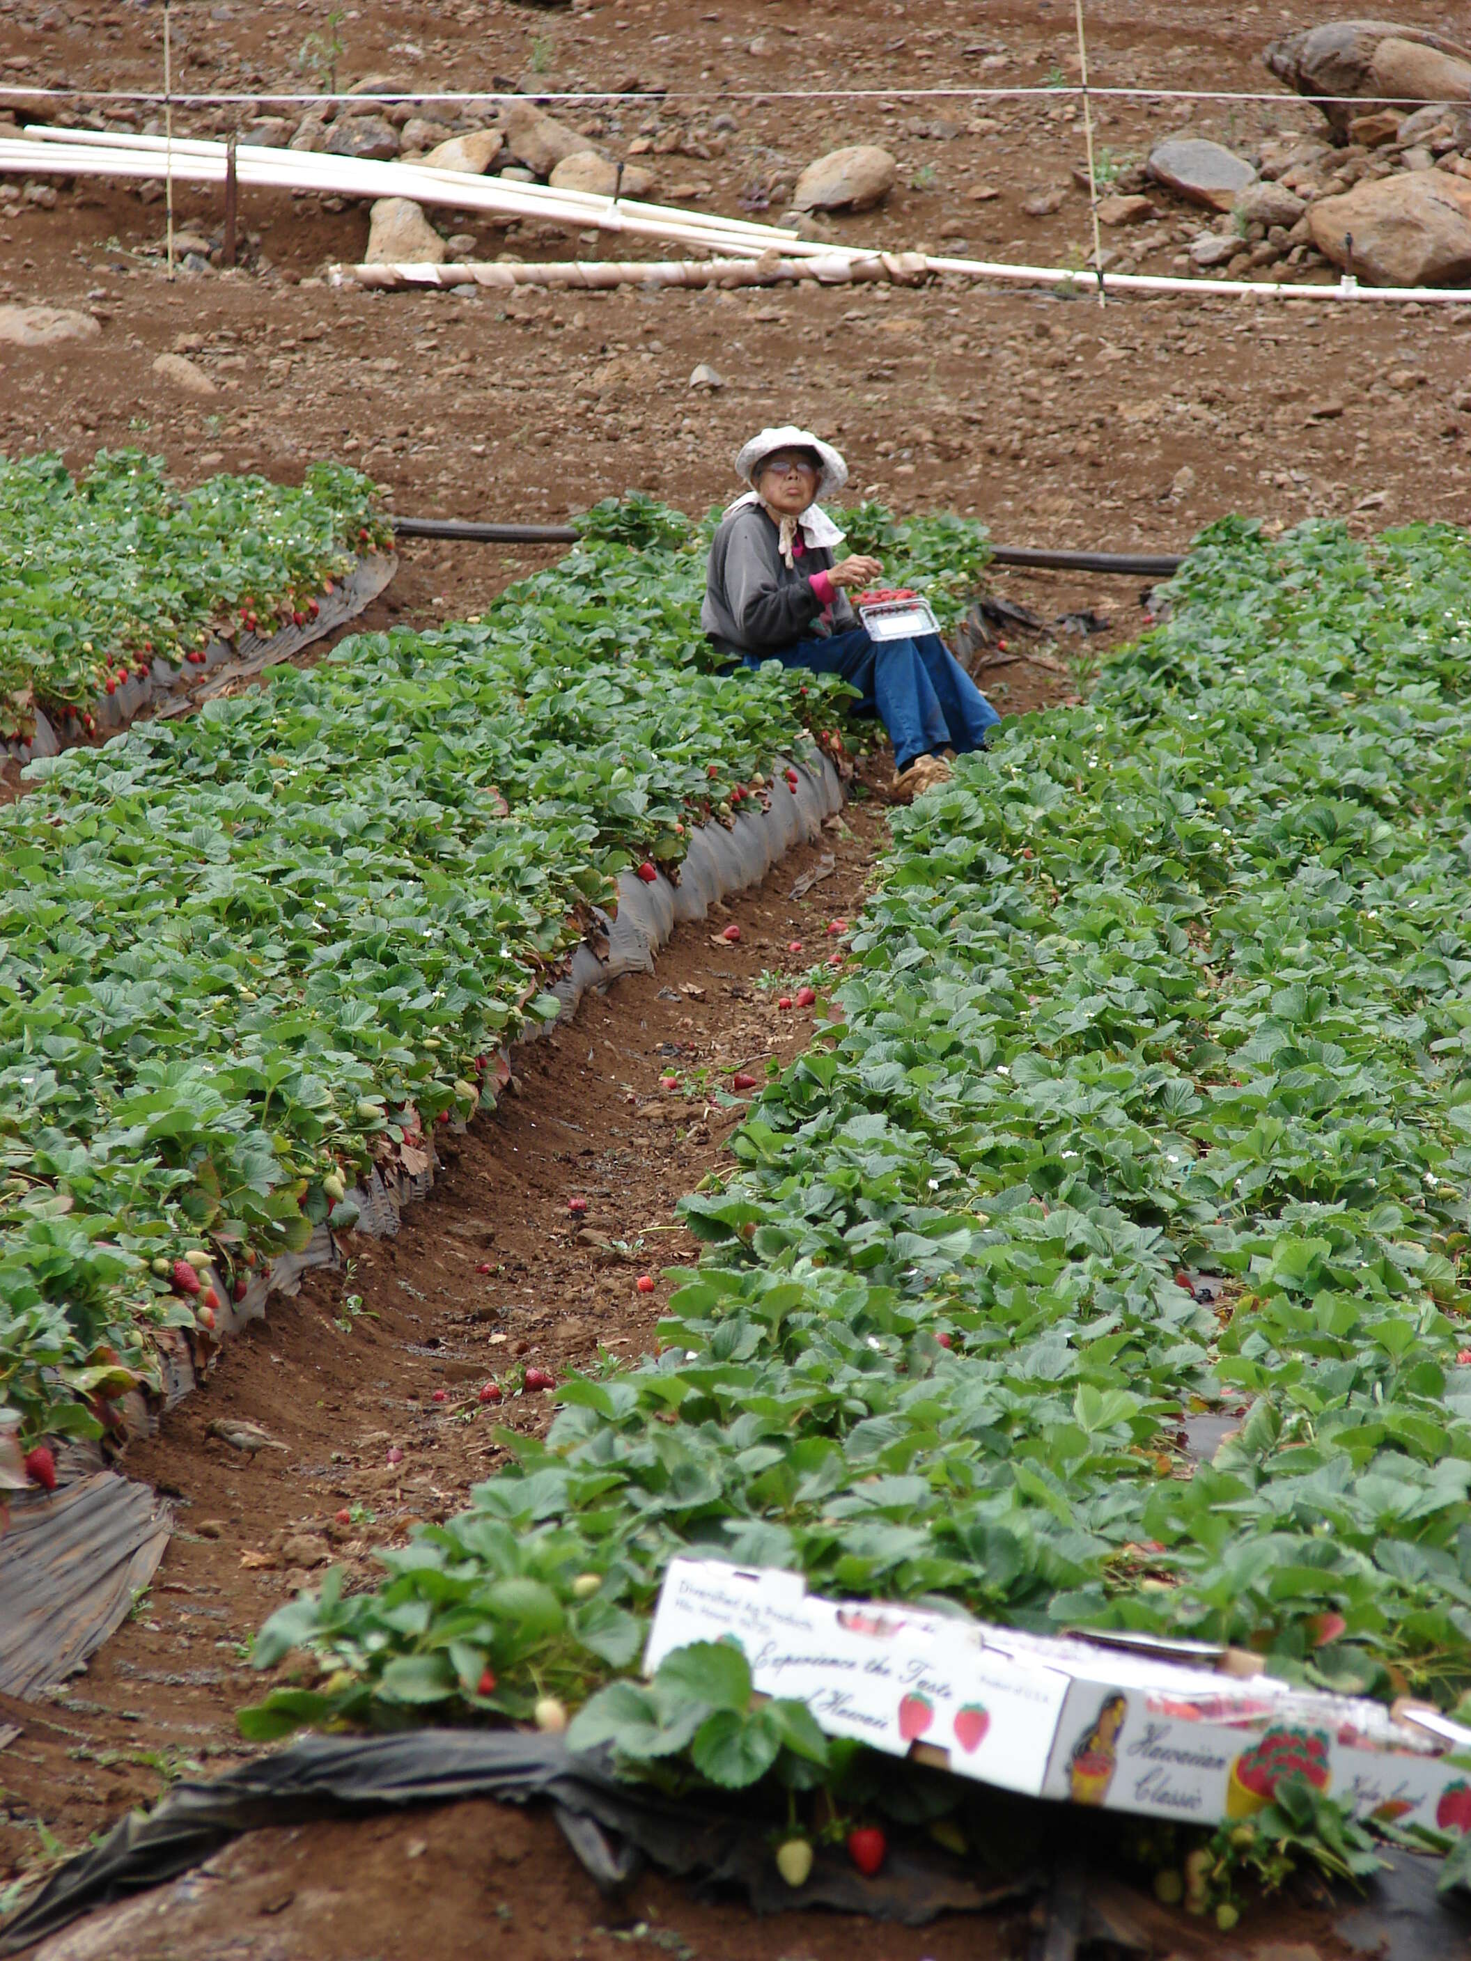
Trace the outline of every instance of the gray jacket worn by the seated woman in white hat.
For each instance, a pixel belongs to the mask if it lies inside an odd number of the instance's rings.
[[[710,543],[700,626],[722,653],[765,661],[796,639],[826,639],[857,626],[845,592],[824,608],[812,590],[812,573],[832,569],[832,551],[808,545],[788,571],[779,535],[759,504],[743,504],[720,522]]]

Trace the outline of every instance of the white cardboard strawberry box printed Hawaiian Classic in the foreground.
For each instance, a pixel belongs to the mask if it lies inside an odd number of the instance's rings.
[[[645,1669],[737,1641],[759,1694],[830,1735],[1004,1790],[1218,1824],[1302,1775],[1357,1818],[1471,1824],[1471,1730],[1293,1688],[1251,1655],[1132,1635],[1045,1637],[894,1602],[824,1600],[798,1573],[677,1559]]]

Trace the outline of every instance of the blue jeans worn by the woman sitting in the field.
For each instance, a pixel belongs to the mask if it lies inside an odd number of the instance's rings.
[[[841,675],[863,700],[857,714],[877,714],[894,745],[894,769],[941,749],[983,749],[1000,716],[938,633],[920,639],[869,639],[867,628],[828,639],[798,639],[777,653],[745,655],[747,667],[781,661],[814,675]]]

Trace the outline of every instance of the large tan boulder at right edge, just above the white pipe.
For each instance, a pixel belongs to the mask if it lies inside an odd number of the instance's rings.
[[[1367,286],[1471,282],[1471,182],[1447,171],[1379,176],[1320,198],[1308,226],[1318,251]]]

